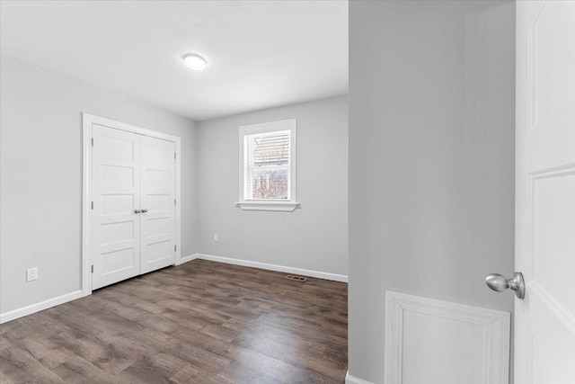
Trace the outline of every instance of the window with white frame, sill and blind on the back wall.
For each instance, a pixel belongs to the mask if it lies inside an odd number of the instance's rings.
[[[240,127],[238,206],[296,209],[296,119]]]

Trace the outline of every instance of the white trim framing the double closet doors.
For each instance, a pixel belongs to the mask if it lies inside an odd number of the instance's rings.
[[[82,296],[92,294],[92,125],[101,124],[113,129],[125,130],[132,133],[148,136],[151,138],[162,138],[175,143],[176,164],[175,164],[175,244],[176,258],[175,264],[181,263],[181,138],[167,133],[157,132],[151,129],[144,129],[135,125],[119,121],[94,116],[89,113],[82,113],[83,128],[83,172],[82,172]]]

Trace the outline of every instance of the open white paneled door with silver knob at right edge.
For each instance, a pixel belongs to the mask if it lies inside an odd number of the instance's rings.
[[[515,382],[575,383],[575,1],[517,1]]]

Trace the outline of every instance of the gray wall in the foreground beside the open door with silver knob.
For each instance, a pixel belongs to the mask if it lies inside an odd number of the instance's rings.
[[[383,383],[385,290],[512,311],[514,11],[349,3],[352,376]]]

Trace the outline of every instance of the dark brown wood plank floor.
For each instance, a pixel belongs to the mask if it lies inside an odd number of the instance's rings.
[[[2,383],[343,383],[346,283],[194,260],[0,326]]]

